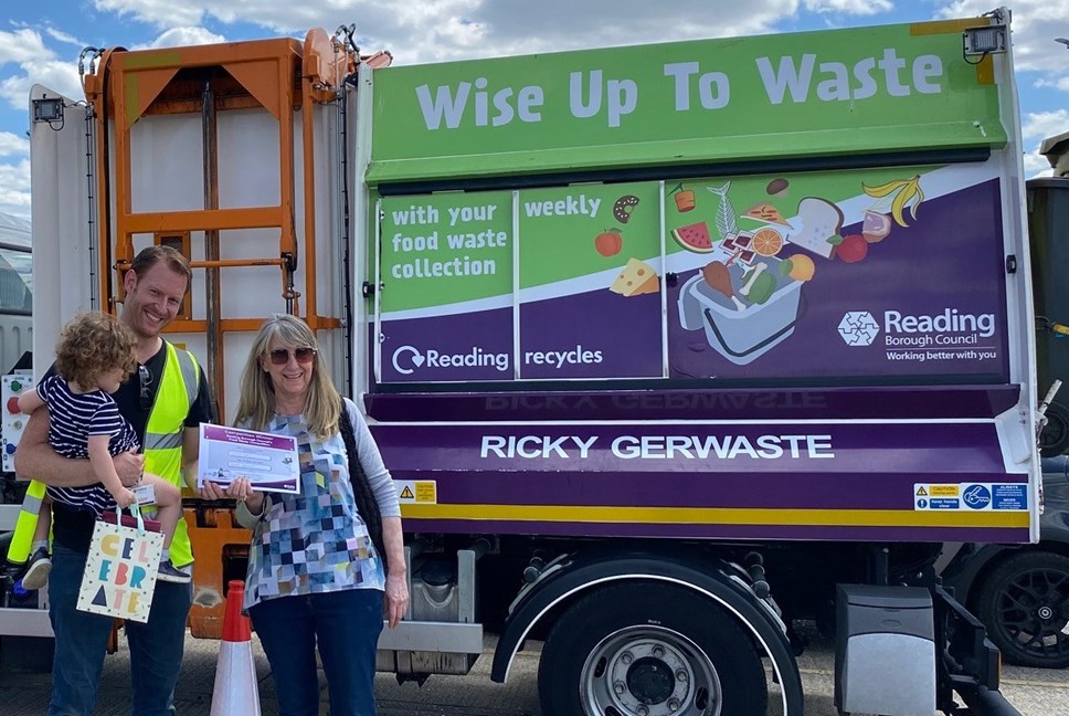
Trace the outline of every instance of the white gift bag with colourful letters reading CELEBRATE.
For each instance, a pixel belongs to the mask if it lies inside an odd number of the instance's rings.
[[[121,510],[119,510],[121,513]],[[77,608],[81,611],[147,622],[156,590],[163,535],[145,527],[141,512],[130,505],[131,526],[98,519],[85,560]]]

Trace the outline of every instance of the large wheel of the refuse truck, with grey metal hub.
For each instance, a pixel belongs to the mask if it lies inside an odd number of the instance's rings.
[[[618,585],[561,615],[538,693],[553,716],[761,716],[764,667],[735,620],[678,587]]]

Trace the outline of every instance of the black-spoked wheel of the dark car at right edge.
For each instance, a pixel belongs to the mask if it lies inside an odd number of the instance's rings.
[[[1007,662],[1069,666],[1069,557],[1049,551],[1014,555],[991,571],[975,603]]]

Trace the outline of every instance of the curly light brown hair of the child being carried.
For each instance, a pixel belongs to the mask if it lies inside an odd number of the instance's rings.
[[[100,376],[121,368],[123,380],[137,368],[137,337],[110,314],[80,313],[63,326],[55,345],[55,371],[83,390],[96,388]]]

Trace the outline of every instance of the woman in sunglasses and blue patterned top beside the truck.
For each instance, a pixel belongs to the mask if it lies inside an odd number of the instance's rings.
[[[382,514],[389,572],[358,514],[338,396],[316,337],[299,318],[274,315],[256,335],[241,381],[235,424],[292,435],[298,494],[256,492],[245,478],[225,493],[253,530],[245,609],[271,663],[283,716],[317,715],[316,647],[332,716],[373,716],[374,664],[383,608],[396,626],[409,602],[401,508],[368,424],[348,399],[360,465]],[[384,597],[384,604],[383,604]]]

